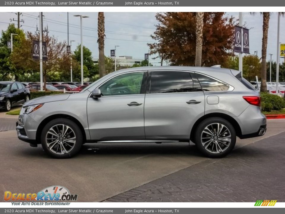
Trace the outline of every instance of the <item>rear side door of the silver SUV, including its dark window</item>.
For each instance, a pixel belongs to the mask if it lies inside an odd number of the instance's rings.
[[[145,95],[146,139],[189,140],[191,127],[205,110],[205,96],[194,73],[152,71],[149,76]]]

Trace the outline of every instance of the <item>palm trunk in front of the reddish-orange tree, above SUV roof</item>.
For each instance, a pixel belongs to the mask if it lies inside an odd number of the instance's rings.
[[[203,18],[204,12],[197,12],[196,14],[196,57],[195,66],[202,64],[202,45],[203,45]]]

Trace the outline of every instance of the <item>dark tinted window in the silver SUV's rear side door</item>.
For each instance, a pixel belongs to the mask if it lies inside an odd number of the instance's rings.
[[[189,72],[151,72],[151,94],[193,92],[193,80]]]

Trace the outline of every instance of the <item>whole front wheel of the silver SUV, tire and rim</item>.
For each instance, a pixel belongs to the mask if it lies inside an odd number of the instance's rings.
[[[78,125],[66,118],[54,119],[45,125],[41,135],[42,147],[54,158],[71,158],[83,143]]]

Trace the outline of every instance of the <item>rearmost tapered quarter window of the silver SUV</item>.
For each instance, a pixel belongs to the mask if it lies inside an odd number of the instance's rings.
[[[214,80],[208,76],[204,76],[197,73],[196,76],[200,82],[203,91],[227,91],[229,89],[228,85]]]

